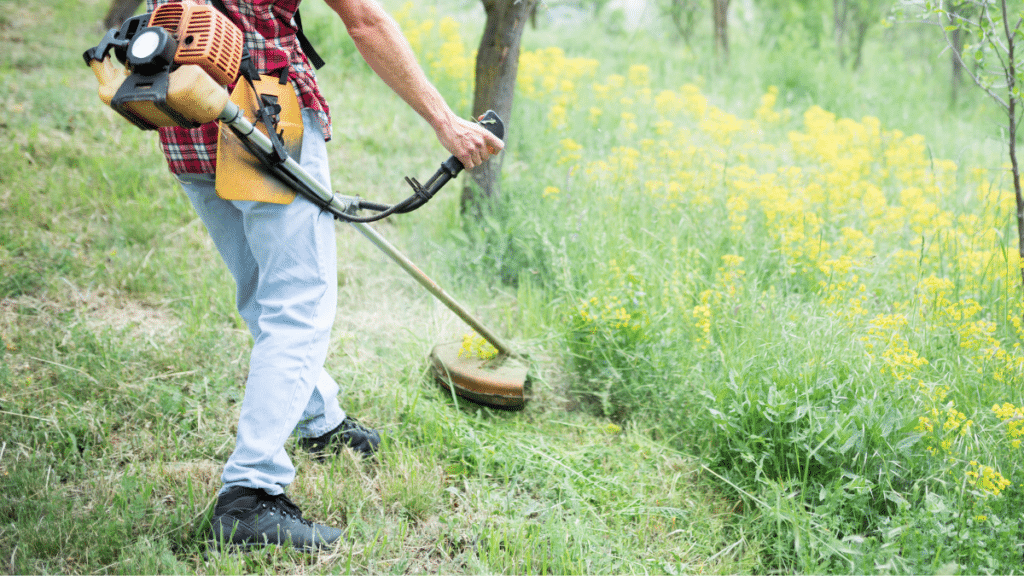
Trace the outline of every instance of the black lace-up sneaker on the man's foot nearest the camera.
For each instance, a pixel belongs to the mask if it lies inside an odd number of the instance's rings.
[[[253,548],[291,542],[312,551],[331,546],[342,531],[302,519],[302,511],[285,494],[271,496],[257,488],[237,486],[217,497],[210,521],[211,544]]]

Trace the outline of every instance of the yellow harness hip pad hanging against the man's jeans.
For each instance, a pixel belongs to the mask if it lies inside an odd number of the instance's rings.
[[[285,151],[295,161],[302,152],[302,112],[292,83],[282,84],[276,76],[261,76],[254,82],[253,92],[249,82],[240,79],[231,91],[231,101],[245,113],[246,118],[266,133],[262,122],[256,122],[257,93],[272,96],[281,106],[278,132],[282,134]],[[279,180],[258,158],[250,154],[234,132],[220,123],[217,138],[217,196],[224,200],[253,200],[271,204],[291,204],[295,191]]]

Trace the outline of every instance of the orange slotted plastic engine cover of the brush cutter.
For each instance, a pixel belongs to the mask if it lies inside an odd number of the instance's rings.
[[[234,82],[245,37],[220,10],[193,0],[159,6],[150,26],[162,27],[178,41],[174,61],[197,65],[221,85]]]

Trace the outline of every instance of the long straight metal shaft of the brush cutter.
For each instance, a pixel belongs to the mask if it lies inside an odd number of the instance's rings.
[[[251,145],[255,146],[262,152],[269,154],[273,151],[273,145],[270,142],[270,138],[268,138],[263,132],[257,130],[253,123],[246,118],[242,109],[240,109],[234,102],[227,102],[223,112],[220,113],[220,120],[232,127],[238,133],[249,140]],[[323,206],[325,210],[331,212],[332,214],[344,215],[349,206],[354,203],[354,198],[339,196],[325,189],[318,180],[310,176],[305,170],[302,169],[299,163],[292,158],[286,159],[281,165],[280,170],[284,171],[288,178],[291,178],[301,184],[294,187],[297,193],[302,196],[311,195],[312,198],[308,198],[308,200]],[[499,353],[506,356],[514,356],[512,348],[509,347],[504,340],[499,338],[494,332],[488,330],[475,318],[473,318],[469,312],[462,306],[462,304],[457,302],[455,298],[444,291],[443,288],[424,274],[419,266],[413,263],[413,260],[410,260],[404,254],[399,252],[397,248],[391,245],[387,239],[381,236],[370,224],[364,222],[348,223],[352,224],[362,236],[373,242],[375,246],[380,248],[382,252],[387,254],[392,260],[395,261],[395,263],[409,273],[409,275],[419,282],[420,285],[426,288],[428,292],[433,294],[433,296],[447,306],[449,310],[454,312],[456,316],[461,318],[463,322],[468,324],[473,330],[476,331],[476,333],[483,336],[483,339],[487,340],[493,346],[498,348]]]

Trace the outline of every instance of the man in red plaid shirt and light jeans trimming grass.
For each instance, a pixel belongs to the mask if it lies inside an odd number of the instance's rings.
[[[296,37],[299,1],[222,0],[218,8],[245,33],[261,74],[289,68],[304,126],[299,162],[332,190],[325,147],[331,136],[329,107]],[[377,0],[326,1],[370,67],[466,168],[504,148],[490,132],[455,115]],[[147,2],[151,10],[164,3]],[[337,304],[334,220],[302,198],[290,204],[219,198],[213,176],[216,141],[216,124],[161,129],[169,167],[236,280],[238,310],[254,339],[236,448],[224,466],[212,519],[213,536],[218,544],[232,546],[328,546],[341,531],[304,520],[285,494],[295,478],[285,441],[294,431],[299,446],[315,455],[347,446],[372,456],[380,443],[375,430],[341,409],[338,384],[324,370]]]

